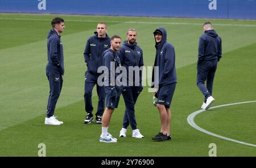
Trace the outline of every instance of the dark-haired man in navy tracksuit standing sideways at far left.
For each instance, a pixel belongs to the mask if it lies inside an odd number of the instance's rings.
[[[64,56],[60,33],[64,31],[64,20],[52,19],[52,29],[48,32],[46,76],[49,81],[49,98],[47,104],[47,116],[44,124],[60,125],[63,122],[54,117],[55,106],[60,96],[64,75]]]

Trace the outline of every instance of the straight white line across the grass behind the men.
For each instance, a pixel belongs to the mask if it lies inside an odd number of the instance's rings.
[[[28,20],[28,21],[49,21],[49,19],[34,19],[34,18],[0,18],[0,20]],[[69,20],[65,21],[74,21],[74,22],[96,22],[100,20]],[[179,23],[179,22],[155,22],[155,21],[115,21],[115,20],[105,20],[106,23],[127,23],[127,24],[168,24],[168,25],[202,25],[202,23]],[[214,25],[220,26],[241,26],[241,27],[256,27],[256,24],[221,24],[216,23]]]

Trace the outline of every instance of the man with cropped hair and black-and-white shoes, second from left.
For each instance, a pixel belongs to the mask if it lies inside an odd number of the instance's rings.
[[[96,123],[101,124],[101,117],[104,112],[105,106],[105,91],[104,87],[98,85],[98,77],[102,72],[98,72],[98,67],[103,66],[102,53],[110,48],[110,38],[106,34],[106,24],[98,23],[97,32],[94,36],[90,37],[86,42],[84,59],[87,64],[87,71],[85,72],[85,85],[84,85],[84,101],[85,111],[87,115],[84,123],[89,124],[93,120],[93,105],[92,105],[92,91],[96,84],[98,94],[98,107],[96,112]]]

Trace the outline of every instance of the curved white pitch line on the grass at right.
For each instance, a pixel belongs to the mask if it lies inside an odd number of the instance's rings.
[[[234,103],[234,104],[219,105],[219,106],[210,107],[210,109],[216,109],[216,108],[218,108],[218,107],[224,107],[224,106],[233,106],[233,105],[240,105],[240,104],[249,104],[249,103],[253,103],[253,102],[256,102],[256,100],[255,100],[255,101],[237,102],[237,103]],[[251,146],[251,147],[256,147],[255,144],[245,143],[245,142],[243,142],[243,141],[238,141],[238,140],[230,139],[230,138],[225,137],[225,136],[220,136],[220,135],[217,135],[216,133],[209,132],[209,131],[204,130],[203,128],[197,126],[197,124],[194,122],[194,118],[196,117],[197,114],[203,113],[204,111],[206,111],[206,110],[202,109],[202,110],[195,111],[195,112],[193,112],[192,114],[190,114],[190,115],[188,116],[188,118],[187,118],[188,123],[189,123],[192,127],[196,128],[196,130],[199,130],[199,131],[201,131],[201,132],[207,133],[208,135],[212,135],[212,136],[219,137],[219,138],[221,138],[221,139],[225,139],[225,140],[228,140],[228,141],[233,141],[234,143],[239,143],[239,144],[243,144],[243,145],[249,145],[249,146]]]

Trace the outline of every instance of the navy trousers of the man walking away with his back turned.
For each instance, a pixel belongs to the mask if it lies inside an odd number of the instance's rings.
[[[200,91],[204,94],[204,102],[207,98],[212,96],[213,79],[217,69],[217,60],[203,61],[197,63],[197,79],[196,85]],[[207,86],[205,87],[205,81]]]

